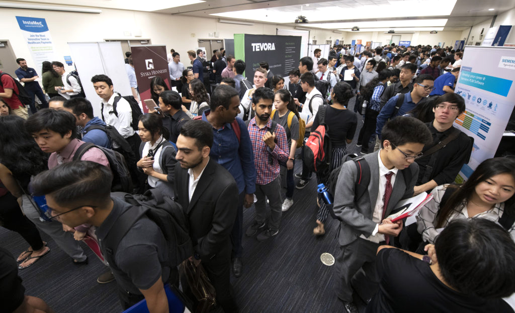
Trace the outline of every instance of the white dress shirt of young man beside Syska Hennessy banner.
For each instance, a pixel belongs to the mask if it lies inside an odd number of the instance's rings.
[[[129,102],[121,97],[118,103],[116,103],[116,112],[118,113],[118,117],[116,117],[113,111],[113,102],[116,96],[118,96],[118,94],[113,93],[107,102],[102,99],[102,103],[104,104],[104,111],[102,113],[103,119],[107,125],[116,128],[124,138],[128,138],[134,134],[134,129],[130,126],[132,122],[132,109],[130,108]]]

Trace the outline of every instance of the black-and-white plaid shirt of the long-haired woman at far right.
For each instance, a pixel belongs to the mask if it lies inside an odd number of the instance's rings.
[[[433,199],[427,202],[416,216],[417,230],[422,234],[424,241],[429,241],[430,244],[434,244],[436,237],[439,235],[439,231],[435,229],[436,215],[440,208],[440,201],[445,193],[445,187],[447,186],[448,185],[440,185],[435,187],[431,192]],[[453,208],[453,211],[449,214],[444,227],[447,226],[450,221],[455,219],[486,218],[493,222],[498,222],[503,215],[503,212],[504,203],[496,203],[488,211],[479,213],[475,216],[469,216],[467,211],[467,201],[464,200],[460,205]],[[510,233],[511,238],[515,240],[515,224],[511,225],[508,232]]]

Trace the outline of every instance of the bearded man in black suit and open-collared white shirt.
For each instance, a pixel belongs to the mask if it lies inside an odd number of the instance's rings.
[[[177,138],[175,195],[190,221],[195,265],[202,265],[225,312],[238,308],[230,292],[231,240],[238,187],[232,175],[210,160],[213,131],[209,123],[191,120]]]

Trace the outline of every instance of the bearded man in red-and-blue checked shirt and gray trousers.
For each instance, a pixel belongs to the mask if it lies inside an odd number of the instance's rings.
[[[256,237],[259,241],[279,233],[283,204],[279,162],[286,162],[289,154],[284,128],[270,119],[272,109],[273,91],[264,87],[256,89],[252,95],[252,110],[255,111],[255,117],[248,124],[256,168],[256,217],[245,234],[251,237],[259,233]],[[266,198],[271,208],[268,222]]]

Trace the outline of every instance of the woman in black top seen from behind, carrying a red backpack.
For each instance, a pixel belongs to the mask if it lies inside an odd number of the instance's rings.
[[[353,97],[352,88],[346,82],[338,82],[331,91],[331,99],[333,104],[325,106],[324,115],[321,115],[320,108],[318,109],[317,116],[313,121],[312,130],[324,123],[328,126],[328,134],[331,138],[332,159],[331,167],[327,173],[322,175],[317,173],[317,183],[329,186],[329,174],[334,168],[341,165],[343,156],[347,154],[347,144],[352,142],[354,133],[356,132],[357,116],[356,113],[347,110],[347,104]],[[317,199],[318,214],[317,214],[317,227],[313,230],[313,234],[321,236],[325,234],[323,224],[329,213],[327,205],[322,201],[322,196],[318,195]]]

